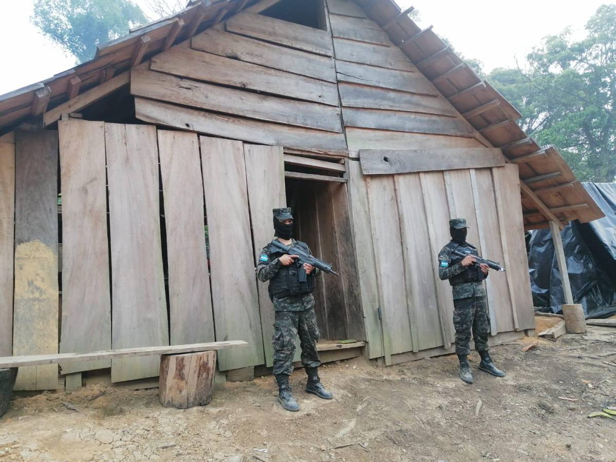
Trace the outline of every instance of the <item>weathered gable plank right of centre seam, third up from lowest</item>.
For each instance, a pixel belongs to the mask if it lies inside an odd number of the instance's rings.
[[[457,111],[444,98],[416,95],[357,84],[338,84],[342,106],[408,111],[413,113],[457,116]]]

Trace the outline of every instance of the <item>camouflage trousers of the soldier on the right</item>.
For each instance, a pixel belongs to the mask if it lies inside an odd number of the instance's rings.
[[[456,329],[456,354],[469,354],[469,343],[475,341],[477,351],[488,351],[490,314],[485,297],[453,300],[453,327]]]

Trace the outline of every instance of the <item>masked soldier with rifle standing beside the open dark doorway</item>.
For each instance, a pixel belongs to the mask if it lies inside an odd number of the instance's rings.
[[[274,209],[274,231],[280,242],[288,247],[299,246],[306,252],[310,249],[304,242],[291,238],[293,233],[293,215],[291,209]],[[310,253],[312,255],[312,253]],[[298,402],[291,393],[289,376],[293,372],[295,355],[295,337],[299,334],[302,349],[302,365],[306,369],[308,381],[306,392],[323,399],[332,399],[318,378],[317,368],[321,364],[318,357],[317,341],[320,333],[317,317],[314,313],[315,276],[318,269],[307,263],[301,265],[298,255],[278,252],[270,244],[265,245],[257,263],[259,281],[269,281],[269,295],[274,303],[274,377],[278,383],[278,401],[290,411],[298,411]],[[299,281],[301,271],[306,271],[306,282]]]

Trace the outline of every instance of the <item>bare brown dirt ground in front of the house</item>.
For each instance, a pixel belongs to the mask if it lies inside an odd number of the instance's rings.
[[[616,420],[587,417],[616,405],[616,329],[524,338],[492,356],[507,376],[478,371],[473,353],[472,385],[453,355],[328,364],[333,401],[306,394],[296,370],[298,413],[276,403],[271,376],[221,385],[211,404],[188,410],[161,407],[156,389],[17,394],[0,419],[0,459],[616,461]]]

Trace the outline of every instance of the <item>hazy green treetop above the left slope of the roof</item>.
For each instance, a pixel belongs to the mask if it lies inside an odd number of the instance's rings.
[[[129,0],[34,0],[31,21],[83,63],[94,57],[97,45],[147,19]]]

